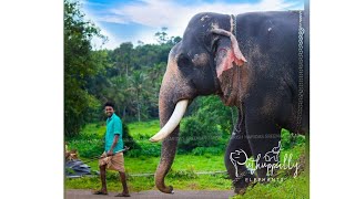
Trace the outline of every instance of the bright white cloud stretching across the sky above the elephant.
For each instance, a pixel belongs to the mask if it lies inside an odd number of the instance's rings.
[[[257,3],[225,3],[214,2],[192,6],[182,6],[176,1],[166,0],[143,0],[143,3],[129,3],[108,10],[109,15],[95,17],[95,21],[114,23],[139,23],[160,31],[162,27],[168,28],[169,35],[182,36],[190,19],[199,12],[220,12],[236,14],[251,11],[278,11],[303,9],[297,8],[297,2],[286,2],[285,0],[262,0]],[[155,32],[156,32],[155,31]],[[155,42],[155,32],[139,32],[138,40],[144,43]],[[110,36],[112,40],[113,38]],[[136,41],[132,41],[133,43]],[[113,41],[114,42],[114,39]],[[115,45],[118,46],[118,44]]]

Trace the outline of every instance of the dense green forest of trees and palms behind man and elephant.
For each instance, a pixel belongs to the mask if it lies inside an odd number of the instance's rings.
[[[78,135],[85,124],[104,121],[102,105],[106,101],[116,104],[124,122],[158,118],[168,55],[181,41],[180,36],[168,35],[166,28],[155,33],[158,44],[140,42],[133,46],[125,42],[114,50],[97,50],[91,42],[94,38],[103,43],[108,40],[94,23],[85,21],[79,2],[64,0],[64,134],[69,137]],[[226,133],[235,119],[233,112],[217,97],[197,100],[187,113],[194,117],[186,124],[203,127],[200,123],[214,121]]]

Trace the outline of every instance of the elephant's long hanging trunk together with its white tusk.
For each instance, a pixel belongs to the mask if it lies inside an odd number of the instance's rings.
[[[182,119],[189,100],[194,98],[195,90],[189,86],[186,80],[180,78],[174,50],[169,56],[168,69],[159,94],[159,117],[161,130],[150,138],[162,143],[161,158],[155,171],[156,188],[166,193],[173,193],[173,187],[166,187],[164,178],[168,175],[176,154],[179,140],[179,124]]]

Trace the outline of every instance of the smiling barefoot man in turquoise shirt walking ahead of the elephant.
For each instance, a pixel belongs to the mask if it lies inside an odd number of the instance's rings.
[[[119,150],[123,149],[123,132],[122,122],[119,116],[114,114],[113,103],[105,103],[104,111],[108,116],[106,119],[106,133],[104,142],[104,153],[99,159],[100,177],[101,177],[101,190],[97,190],[94,195],[108,195],[106,188],[106,169],[118,170],[120,174],[123,191],[115,197],[130,197],[129,189],[126,187],[126,179],[124,172],[124,158],[123,153]]]

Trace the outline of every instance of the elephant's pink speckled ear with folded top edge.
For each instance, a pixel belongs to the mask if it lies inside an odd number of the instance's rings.
[[[212,33],[227,36],[227,42],[220,42],[216,50],[216,72],[217,77],[222,75],[224,71],[233,67],[233,62],[237,66],[242,66],[246,59],[242,54],[235,36],[223,29],[213,29]]]

